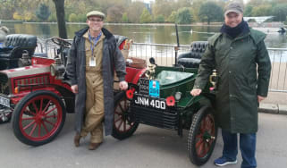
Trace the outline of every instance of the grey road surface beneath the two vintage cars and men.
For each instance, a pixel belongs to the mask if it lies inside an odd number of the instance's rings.
[[[0,124],[1,168],[195,168],[187,153],[187,131],[183,138],[173,130],[163,130],[145,125],[130,139],[119,141],[110,136],[102,146],[89,151],[89,139],[80,147],[73,147],[74,114],[68,114],[62,132],[54,141],[41,147],[29,147],[13,136],[11,123]],[[287,115],[259,113],[257,132],[258,168],[283,168],[287,164]],[[215,151],[203,168],[213,168],[213,161],[221,155],[221,133]],[[225,166],[240,168],[239,164]]]

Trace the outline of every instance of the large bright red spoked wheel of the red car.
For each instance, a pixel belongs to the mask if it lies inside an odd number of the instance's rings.
[[[13,132],[30,146],[44,145],[58,135],[65,121],[63,101],[55,93],[40,90],[23,97],[13,112]]]

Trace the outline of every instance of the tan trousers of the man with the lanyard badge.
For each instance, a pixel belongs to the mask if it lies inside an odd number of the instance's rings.
[[[85,122],[80,131],[81,137],[90,133],[91,143],[103,141],[104,87],[99,71],[86,71],[87,99]]]

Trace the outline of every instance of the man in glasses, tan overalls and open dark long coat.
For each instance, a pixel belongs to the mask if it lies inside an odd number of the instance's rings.
[[[103,142],[103,126],[110,135],[114,124],[114,70],[120,80],[119,88],[128,88],[124,80],[125,61],[116,46],[114,35],[103,28],[105,14],[87,13],[89,27],[75,33],[67,63],[67,75],[72,80],[75,100],[75,147],[90,133],[89,149]]]

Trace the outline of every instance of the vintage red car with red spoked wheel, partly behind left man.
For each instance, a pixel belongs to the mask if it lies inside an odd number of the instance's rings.
[[[127,38],[117,37],[123,49]],[[54,59],[32,56],[28,66],[0,71],[0,122],[11,119],[17,139],[30,146],[40,146],[55,139],[63,128],[66,113],[74,113],[74,94],[64,77],[65,48],[71,44],[52,38],[59,46]],[[132,63],[131,63],[132,64]],[[132,65],[131,65],[132,66]],[[145,65],[127,66],[126,80],[137,83]],[[124,92],[114,89],[115,106],[127,104]],[[125,105],[126,106],[126,105]]]

